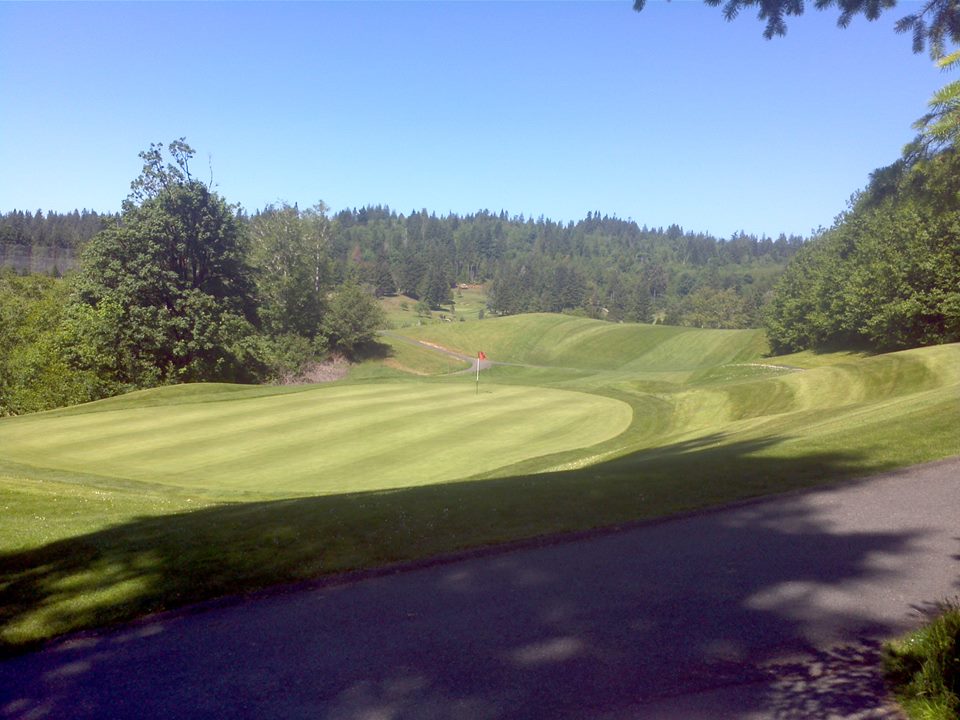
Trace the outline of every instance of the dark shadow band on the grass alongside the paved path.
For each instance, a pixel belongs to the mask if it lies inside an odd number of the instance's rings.
[[[719,439],[571,472],[142,517],[0,555],[2,647],[276,583],[617,525],[882,469],[864,467],[854,455],[751,455],[775,440],[710,447]]]

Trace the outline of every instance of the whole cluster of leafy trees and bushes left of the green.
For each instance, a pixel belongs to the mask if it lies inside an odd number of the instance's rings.
[[[0,273],[0,414],[257,382],[373,340],[382,310],[332,258],[325,214],[280,208],[247,222],[191,176],[192,156],[182,139],[141,153],[122,212],[83,245],[75,273]]]

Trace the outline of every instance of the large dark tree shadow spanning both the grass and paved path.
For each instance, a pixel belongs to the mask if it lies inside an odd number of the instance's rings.
[[[276,583],[885,469],[854,454],[758,457],[774,440],[718,448],[716,439],[572,472],[138,518],[6,554],[4,649]],[[384,705],[398,709],[391,717],[621,717],[638,703],[750,682],[767,683],[759,702],[776,710],[770,717],[825,717],[851,702],[879,707],[876,676],[857,669],[873,672],[875,648],[857,639],[887,628],[856,604],[822,596],[882,584],[893,571],[872,560],[894,558],[899,567],[923,531],[840,531],[805,498],[695,513],[640,533],[601,532],[588,543],[534,542],[534,553],[491,553],[467,566],[424,563],[433,567],[389,582],[321,585],[315,603],[292,595],[279,616],[255,612],[278,601],[268,596],[241,605],[253,616],[214,628],[200,644],[185,637],[203,614],[160,616],[120,639],[94,637],[0,665],[0,713],[26,717],[42,699],[57,716],[79,693],[91,717],[186,717],[177,703],[198,696],[214,698],[223,716],[293,716],[303,707],[285,712],[283,703],[303,701],[318,717],[367,717]],[[829,666],[813,644],[840,628],[857,642],[837,652],[866,653],[862,663],[834,658],[826,684],[808,678],[806,689],[794,683],[783,697],[771,689],[771,677],[808,672],[811,657]],[[149,657],[134,655],[145,643]],[[802,667],[790,665],[795,656]],[[313,680],[291,694],[289,678],[304,668]],[[164,677],[171,672],[172,685]],[[732,705],[711,704],[702,717],[736,716]],[[144,707],[156,710],[138,715]]]

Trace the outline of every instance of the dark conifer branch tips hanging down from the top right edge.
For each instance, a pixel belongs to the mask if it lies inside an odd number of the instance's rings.
[[[741,10],[757,8],[757,18],[766,22],[763,36],[768,40],[787,34],[785,18],[802,15],[803,0],[704,0],[712,7],[723,6],[723,16],[733,20]],[[643,10],[646,0],[634,0],[633,9]],[[817,10],[836,7],[840,10],[837,25],[847,27],[856,15],[876,20],[896,5],[896,0],[814,0]],[[957,0],[926,0],[919,12],[909,13],[897,21],[896,31],[910,33],[913,51],[929,47],[933,58],[942,57],[948,42],[960,43],[960,3]]]

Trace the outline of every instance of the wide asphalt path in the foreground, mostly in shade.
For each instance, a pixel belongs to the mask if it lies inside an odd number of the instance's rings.
[[[0,664],[0,717],[895,717],[879,642],[958,553],[955,458],[81,636]]]

